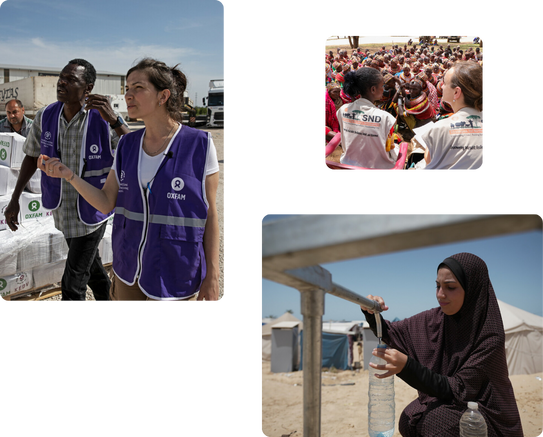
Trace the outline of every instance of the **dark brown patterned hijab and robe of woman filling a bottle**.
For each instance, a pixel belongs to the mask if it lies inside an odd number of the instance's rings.
[[[468,401],[479,404],[488,436],[522,436],[513,387],[505,358],[505,333],[498,301],[485,262],[459,253],[438,267],[448,267],[463,285],[458,313],[440,308],[388,325],[390,346],[430,370],[446,376],[453,400],[445,402],[419,392],[400,418],[403,436],[458,436]]]

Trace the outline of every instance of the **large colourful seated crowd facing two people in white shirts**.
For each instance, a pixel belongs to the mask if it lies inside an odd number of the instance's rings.
[[[337,49],[323,53],[323,141],[326,144],[340,132],[336,113],[344,104],[359,96],[349,96],[343,90],[345,75],[360,68],[374,68],[382,73],[384,92],[374,104],[398,119],[397,139],[410,141],[413,129],[430,121],[438,121],[453,113],[442,100],[443,78],[457,61],[478,62],[479,47],[465,51],[422,44],[419,47],[394,45],[371,54],[369,49],[357,48],[349,55]]]

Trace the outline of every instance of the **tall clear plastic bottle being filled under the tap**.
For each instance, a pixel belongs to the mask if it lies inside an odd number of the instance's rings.
[[[386,344],[378,348],[386,349]],[[372,356],[370,363],[386,364],[387,362]],[[374,375],[386,373],[370,367],[370,388],[368,391],[368,434],[370,437],[391,437],[394,434],[394,376],[379,379]]]

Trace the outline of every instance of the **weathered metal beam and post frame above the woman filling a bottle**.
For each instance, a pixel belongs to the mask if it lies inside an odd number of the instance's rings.
[[[304,437],[321,428],[324,296],[380,311],[318,264],[543,230],[542,213],[315,213],[260,225],[260,277],[296,288],[303,316]]]

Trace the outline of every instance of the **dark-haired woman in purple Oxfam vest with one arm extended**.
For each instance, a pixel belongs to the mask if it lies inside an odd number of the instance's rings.
[[[211,135],[181,124],[186,86],[177,65],[146,58],[128,70],[128,115],[145,129],[121,138],[101,190],[57,158],[38,161],[99,211],[115,208],[113,302],[218,300],[219,166]]]

